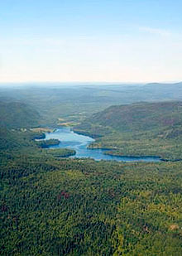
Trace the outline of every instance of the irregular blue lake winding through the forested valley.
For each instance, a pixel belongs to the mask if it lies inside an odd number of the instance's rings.
[[[50,146],[53,148],[70,148],[76,151],[76,154],[72,157],[82,158],[90,157],[95,160],[114,160],[114,161],[140,161],[140,162],[160,162],[160,157],[119,157],[105,155],[106,149],[89,149],[87,148],[91,142],[94,142],[93,138],[88,136],[74,133],[70,128],[59,128],[53,133],[45,133],[45,139],[55,138],[60,140],[59,145]]]

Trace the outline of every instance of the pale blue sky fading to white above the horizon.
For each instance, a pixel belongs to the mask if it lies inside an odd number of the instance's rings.
[[[0,0],[0,83],[182,80],[181,0]]]

